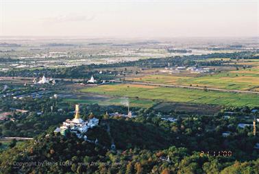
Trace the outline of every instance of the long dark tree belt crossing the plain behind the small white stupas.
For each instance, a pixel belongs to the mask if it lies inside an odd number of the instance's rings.
[[[106,69],[113,68],[114,70],[110,72],[103,72],[102,77],[105,75],[106,79],[112,79],[114,75],[119,72],[116,71],[118,67],[128,67],[137,66],[138,68],[161,68],[167,66],[168,63],[176,66],[195,66],[195,64],[200,66],[221,66],[223,63],[230,62],[229,60],[211,60],[203,61],[208,58],[236,58],[237,56],[247,56],[253,55],[253,52],[238,52],[238,53],[211,53],[208,55],[184,55],[182,58],[178,56],[173,56],[169,58],[149,58],[141,59],[136,61],[119,62],[114,64],[90,64],[82,66],[73,66],[66,68],[56,68],[56,69],[11,69],[7,72],[0,71],[0,76],[9,77],[38,77],[45,74],[46,76],[51,76],[55,78],[89,78],[91,75],[97,76],[99,79],[99,71],[95,69]]]

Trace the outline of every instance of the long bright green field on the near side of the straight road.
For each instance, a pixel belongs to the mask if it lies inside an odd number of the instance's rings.
[[[240,94],[232,92],[216,92],[186,88],[164,88],[156,86],[114,84],[93,88],[84,88],[81,92],[93,92],[102,95],[130,97],[132,99],[151,99],[157,101],[172,101],[184,103],[200,103],[229,106],[259,105],[259,95]]]

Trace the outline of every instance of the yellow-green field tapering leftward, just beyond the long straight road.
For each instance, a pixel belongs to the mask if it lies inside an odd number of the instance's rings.
[[[129,80],[157,84],[178,84],[184,86],[207,86],[227,90],[249,90],[259,86],[259,69],[230,71],[202,77],[181,77],[175,75],[147,75]]]

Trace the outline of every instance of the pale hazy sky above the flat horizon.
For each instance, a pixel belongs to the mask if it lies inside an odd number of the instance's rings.
[[[258,36],[254,0],[0,0],[0,36]]]

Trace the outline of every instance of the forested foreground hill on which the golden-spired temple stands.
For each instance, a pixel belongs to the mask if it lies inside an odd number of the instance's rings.
[[[98,144],[73,134],[55,135],[49,129],[4,151],[0,173],[258,173],[259,160],[240,163],[201,155],[173,146],[169,136],[152,125],[123,120],[103,121],[88,132],[88,138],[98,138]],[[115,151],[110,150],[111,137]]]

